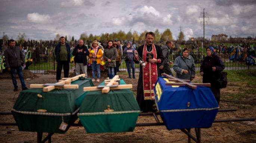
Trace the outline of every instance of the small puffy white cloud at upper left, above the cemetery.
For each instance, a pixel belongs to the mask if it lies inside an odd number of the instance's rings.
[[[52,20],[49,15],[39,14],[39,13],[28,13],[27,20],[31,23],[52,23]]]

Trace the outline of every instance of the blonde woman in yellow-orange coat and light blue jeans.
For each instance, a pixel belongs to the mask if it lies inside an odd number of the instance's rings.
[[[97,81],[99,82],[99,78],[101,78],[101,57],[103,56],[103,53],[101,47],[99,47],[97,40],[92,42],[89,53],[89,63],[92,65],[92,81],[95,81],[95,71],[97,71]]]

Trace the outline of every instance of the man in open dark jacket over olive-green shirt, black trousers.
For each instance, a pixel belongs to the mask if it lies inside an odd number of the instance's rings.
[[[60,38],[59,42],[55,47],[55,55],[57,61],[56,69],[56,80],[57,82],[61,79],[62,66],[64,70],[64,78],[68,78],[69,72],[69,61],[70,61],[70,45],[65,42],[65,37]]]

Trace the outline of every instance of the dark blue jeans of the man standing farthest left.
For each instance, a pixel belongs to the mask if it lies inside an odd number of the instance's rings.
[[[10,69],[11,69],[12,83],[13,83],[14,88],[18,88],[15,71],[17,72],[17,74],[19,76],[19,80],[21,81],[22,89],[26,88],[26,84],[25,84],[25,81],[24,81],[24,76],[23,76],[23,73],[22,73],[22,67],[21,66],[16,66],[16,67],[10,67]]]

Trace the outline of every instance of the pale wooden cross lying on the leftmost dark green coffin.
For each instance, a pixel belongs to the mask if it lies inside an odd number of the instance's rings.
[[[79,77],[85,77],[85,74],[77,75],[73,78],[62,78],[59,82],[53,84],[30,84],[30,88],[43,88],[43,92],[49,92],[54,89],[78,89],[78,84],[72,84],[72,81],[79,79]]]

